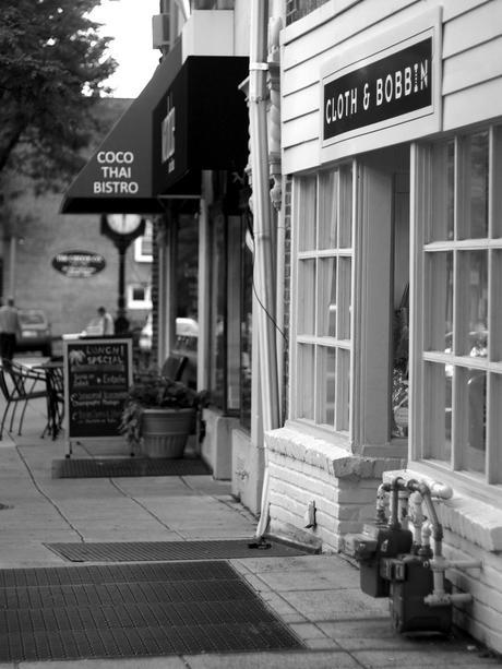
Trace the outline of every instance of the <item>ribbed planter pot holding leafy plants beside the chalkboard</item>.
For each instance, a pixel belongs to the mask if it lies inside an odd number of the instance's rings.
[[[195,409],[143,409],[143,453],[148,457],[182,457],[195,416]]]

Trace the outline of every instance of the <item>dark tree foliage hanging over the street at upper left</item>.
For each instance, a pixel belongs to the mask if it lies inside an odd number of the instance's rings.
[[[0,0],[0,175],[57,189],[83,165],[117,63],[88,13],[100,0]]]

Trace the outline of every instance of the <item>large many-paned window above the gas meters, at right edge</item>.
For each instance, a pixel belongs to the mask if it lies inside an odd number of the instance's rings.
[[[502,129],[421,147],[422,458],[502,482]],[[420,200],[420,199],[419,199]]]

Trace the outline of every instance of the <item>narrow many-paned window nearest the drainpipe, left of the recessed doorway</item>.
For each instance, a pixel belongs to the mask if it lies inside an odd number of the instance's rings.
[[[351,166],[294,182],[295,381],[291,417],[349,430],[352,292]]]

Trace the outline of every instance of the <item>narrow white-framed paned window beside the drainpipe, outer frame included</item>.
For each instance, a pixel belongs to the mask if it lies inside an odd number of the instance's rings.
[[[292,179],[291,295],[297,298],[291,303],[289,419],[309,430],[319,431],[324,439],[344,447],[350,443],[352,413],[355,166],[355,162],[345,162]],[[330,183],[336,186],[336,194],[332,196]],[[336,219],[336,241],[332,244],[326,243],[330,217]],[[306,220],[311,223],[300,231]],[[324,224],[322,229],[320,222]],[[328,231],[333,234],[333,230]],[[332,267],[326,266],[330,263],[333,263]],[[350,267],[347,271],[348,263]],[[310,267],[307,266],[309,264]],[[334,289],[326,290],[325,282],[321,280],[321,275],[325,275],[326,271],[330,274],[335,272]],[[300,303],[307,300],[306,289],[310,290],[309,296],[315,298],[310,314],[300,310]],[[336,295],[334,334],[327,332],[330,319],[325,310],[331,303],[332,295],[328,294],[332,290]],[[306,319],[309,318],[311,322],[307,325]],[[330,393],[326,383],[330,351],[335,353],[333,425],[324,421],[331,410],[326,402]]]

